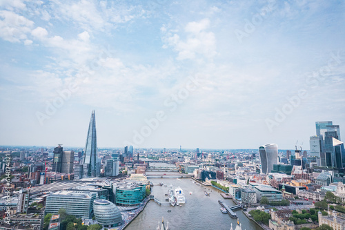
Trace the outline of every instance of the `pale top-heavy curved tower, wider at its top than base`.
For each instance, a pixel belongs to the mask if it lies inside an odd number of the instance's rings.
[[[262,173],[270,173],[273,170],[273,164],[278,164],[278,146],[277,144],[265,144],[259,146]]]

